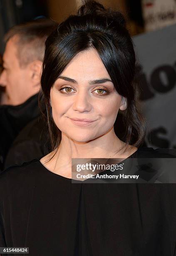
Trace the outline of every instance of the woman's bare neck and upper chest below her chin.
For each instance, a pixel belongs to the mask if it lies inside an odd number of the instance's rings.
[[[103,136],[88,142],[77,142],[62,133],[62,140],[57,151],[49,154],[49,159],[54,157],[46,164],[48,169],[59,175],[71,178],[72,158],[126,158],[121,151],[125,143],[121,141],[114,132],[114,127]]]

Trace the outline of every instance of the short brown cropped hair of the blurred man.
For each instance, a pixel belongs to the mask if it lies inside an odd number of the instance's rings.
[[[32,61],[43,61],[45,53],[45,41],[47,36],[56,28],[56,23],[50,19],[32,20],[10,28],[5,34],[4,40],[7,43],[15,36],[17,46],[17,58],[20,67],[26,67]]]

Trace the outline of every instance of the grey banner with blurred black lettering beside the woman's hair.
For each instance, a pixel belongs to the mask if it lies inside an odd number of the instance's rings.
[[[176,148],[176,25],[133,39],[140,63],[139,104],[147,121],[146,144]]]

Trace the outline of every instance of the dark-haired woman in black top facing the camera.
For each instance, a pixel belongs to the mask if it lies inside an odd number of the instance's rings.
[[[0,246],[32,256],[176,255],[174,185],[72,184],[72,158],[159,157],[138,148],[134,74],[124,18],[99,3],[49,36],[41,85],[53,150],[1,176]],[[114,132],[119,110],[124,141]]]

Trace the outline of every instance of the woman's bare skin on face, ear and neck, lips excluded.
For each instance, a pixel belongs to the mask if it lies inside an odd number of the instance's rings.
[[[53,159],[46,162],[55,152],[40,159],[51,172],[71,178],[72,158],[125,159],[137,150],[129,146],[121,154],[125,143],[116,136],[114,123],[119,109],[126,109],[126,99],[115,90],[95,49],[82,51],[70,61],[55,81],[50,101],[53,119],[62,132]],[[94,122],[82,127],[70,118]]]

